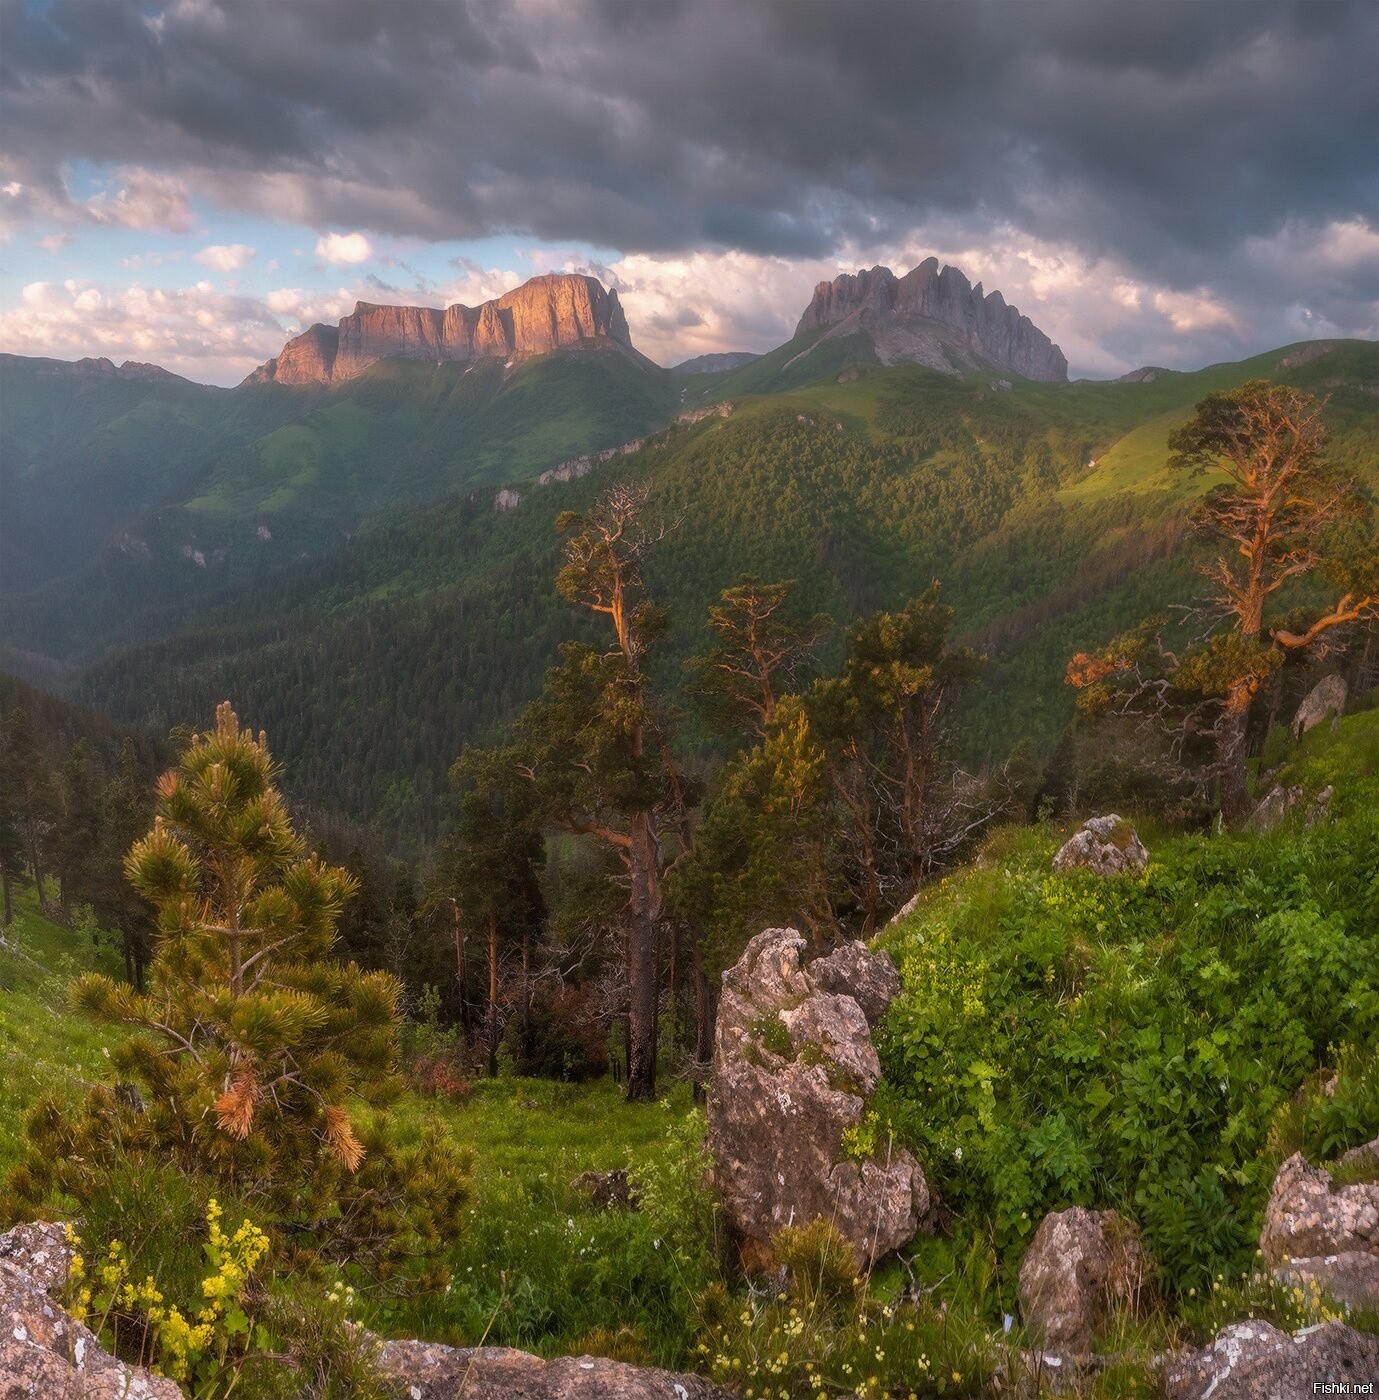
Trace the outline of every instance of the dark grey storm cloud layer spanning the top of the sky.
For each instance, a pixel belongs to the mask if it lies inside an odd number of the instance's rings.
[[[1191,279],[1375,221],[1379,6],[0,0],[6,144],[325,224],[787,256],[1008,221]]]

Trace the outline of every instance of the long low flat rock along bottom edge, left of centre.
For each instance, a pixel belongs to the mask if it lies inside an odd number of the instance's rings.
[[[542,1361],[507,1347],[388,1341],[378,1364],[399,1400],[736,1400],[700,1376],[605,1357]]]

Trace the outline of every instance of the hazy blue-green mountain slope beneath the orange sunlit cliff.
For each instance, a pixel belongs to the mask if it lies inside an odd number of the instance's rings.
[[[379,511],[535,476],[675,412],[669,374],[613,350],[232,391],[8,357],[4,393],[0,648],[35,678],[164,636]]]

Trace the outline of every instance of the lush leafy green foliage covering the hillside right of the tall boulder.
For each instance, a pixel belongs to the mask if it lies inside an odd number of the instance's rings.
[[[1347,727],[1331,825],[1161,837],[1114,881],[1005,832],[886,935],[904,994],[872,1112],[1007,1261],[1046,1211],[1113,1205],[1200,1289],[1253,1253],[1273,1128],[1301,1113],[1320,1159],[1379,1130],[1379,770],[1373,717]]]

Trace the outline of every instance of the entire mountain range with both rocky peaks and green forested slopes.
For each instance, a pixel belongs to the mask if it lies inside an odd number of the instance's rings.
[[[787,344],[675,371],[616,293],[547,277],[480,308],[361,305],[235,389],[101,360],[0,374],[0,665],[162,729],[228,696],[298,798],[409,848],[459,745],[580,633],[552,522],[622,473],[679,525],[651,578],[672,692],[741,573],[799,580],[837,623],[826,651],[937,577],[991,658],[974,763],[1019,738],[1012,713],[1047,750],[1067,655],[1191,596],[1204,483],[1166,472],[1166,438],[1207,392],[1329,393],[1333,451],[1379,484],[1375,344],[1068,384],[1042,332],[932,259],[823,283]]]

